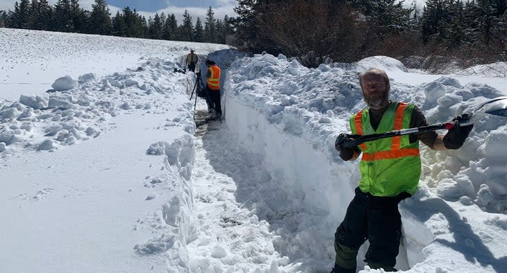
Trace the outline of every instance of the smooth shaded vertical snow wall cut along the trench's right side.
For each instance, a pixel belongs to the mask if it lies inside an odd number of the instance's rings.
[[[316,146],[308,135],[297,136],[284,132],[283,126],[267,121],[251,105],[228,96],[226,116],[228,130],[238,136],[241,149],[258,158],[263,172],[261,179],[247,182],[242,191],[242,177],[238,179],[238,202],[255,208],[260,219],[272,225],[281,236],[276,250],[288,256],[291,263],[301,263],[300,272],[312,272],[315,267],[329,269],[334,263],[334,232],[354,197],[358,173],[350,163],[336,159],[322,146]],[[300,119],[296,116],[294,120]],[[255,186],[255,190],[246,190]],[[405,222],[404,222],[405,223]],[[408,221],[408,231],[429,234],[424,224]],[[424,231],[426,230],[426,231]],[[420,240],[427,238],[428,240]],[[422,249],[432,236],[404,234],[404,243],[397,257],[397,268],[407,270],[419,263]],[[358,268],[368,243],[360,249]]]

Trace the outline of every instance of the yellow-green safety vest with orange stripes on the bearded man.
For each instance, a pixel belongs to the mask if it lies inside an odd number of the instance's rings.
[[[350,118],[352,134],[381,134],[409,128],[414,107],[412,104],[391,102],[376,130],[369,122],[369,109],[360,111]],[[359,162],[361,191],[374,196],[415,192],[421,175],[419,141],[410,143],[406,134],[368,141],[358,148],[363,152]]]

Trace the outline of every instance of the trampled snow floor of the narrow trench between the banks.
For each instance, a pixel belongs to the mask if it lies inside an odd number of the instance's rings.
[[[197,111],[195,163],[192,173],[198,237],[188,245],[192,272],[279,272],[279,254],[269,224],[251,209],[236,201],[238,181],[244,173],[237,139],[225,123],[203,122],[206,112]],[[253,163],[253,161],[249,161]],[[238,178],[238,177],[236,177]],[[244,178],[244,177],[242,177]],[[287,259],[286,259],[287,260]]]

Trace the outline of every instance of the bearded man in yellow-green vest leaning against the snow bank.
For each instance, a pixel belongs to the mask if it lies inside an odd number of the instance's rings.
[[[344,161],[356,160],[361,153],[361,179],[344,220],[335,233],[333,272],[356,273],[359,247],[369,240],[365,262],[373,269],[397,271],[396,256],[401,239],[398,204],[413,195],[421,174],[419,141],[433,150],[460,148],[473,125],[454,126],[445,135],[421,132],[368,141],[353,148],[343,143],[363,134],[426,126],[424,114],[413,104],[389,100],[390,80],[381,69],[368,69],[359,77],[364,109],[351,116],[352,134],[340,134],[335,148]],[[462,116],[454,118],[460,121]]]

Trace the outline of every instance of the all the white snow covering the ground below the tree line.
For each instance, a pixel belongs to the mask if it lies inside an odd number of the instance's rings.
[[[430,123],[507,94],[488,67],[439,76],[377,56],[307,69],[216,44],[0,38],[0,272],[329,272],[359,176],[333,148],[365,107],[358,73],[385,69],[391,97]],[[191,48],[223,69],[224,123],[196,128],[194,74],[173,71]],[[486,115],[462,149],[422,148],[400,270],[505,272],[506,123]]]

